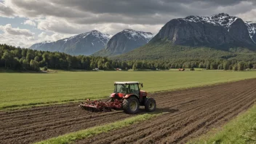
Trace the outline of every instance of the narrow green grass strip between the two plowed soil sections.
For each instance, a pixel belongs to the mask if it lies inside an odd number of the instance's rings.
[[[36,144],[66,144],[72,143],[75,140],[81,140],[87,137],[92,137],[103,132],[109,132],[113,129],[120,129],[121,127],[128,127],[129,125],[152,119],[153,117],[160,116],[162,113],[145,113],[143,115],[133,116],[132,118],[116,121],[109,124],[104,124],[97,127],[91,127],[89,129],[80,130],[78,132],[71,132],[66,135],[60,135],[59,137],[53,137],[48,140],[43,140]]]

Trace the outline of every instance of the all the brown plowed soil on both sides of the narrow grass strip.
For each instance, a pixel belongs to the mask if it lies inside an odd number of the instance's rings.
[[[156,111],[167,113],[76,143],[185,143],[253,105],[256,79],[159,92],[151,97],[156,99]],[[0,143],[35,143],[130,116],[134,115],[122,111],[87,112],[78,103],[0,112]]]

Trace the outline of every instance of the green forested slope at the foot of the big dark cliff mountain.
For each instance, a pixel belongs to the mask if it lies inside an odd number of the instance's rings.
[[[154,41],[131,52],[111,58],[118,60],[256,60],[256,52],[241,47],[229,48],[224,51],[210,47],[174,45],[170,41]]]

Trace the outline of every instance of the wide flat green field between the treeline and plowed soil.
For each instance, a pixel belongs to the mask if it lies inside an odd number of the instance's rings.
[[[113,81],[140,81],[156,92],[255,77],[253,71],[0,73],[0,109],[108,97]]]

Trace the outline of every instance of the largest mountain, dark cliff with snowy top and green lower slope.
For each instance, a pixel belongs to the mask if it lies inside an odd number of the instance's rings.
[[[249,25],[249,26],[248,26]],[[255,25],[220,13],[188,16],[166,23],[143,47],[113,57],[119,60],[255,58]]]

